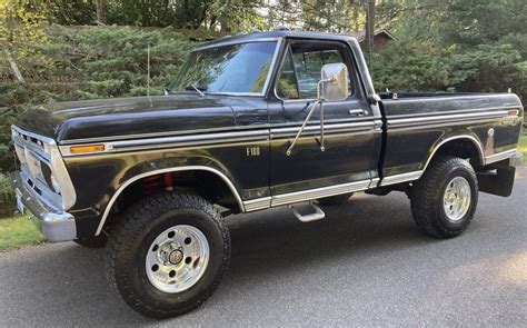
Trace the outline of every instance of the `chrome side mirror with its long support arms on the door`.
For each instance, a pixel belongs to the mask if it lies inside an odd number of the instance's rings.
[[[297,143],[304,129],[311,119],[312,113],[317,105],[320,105],[320,151],[326,150],[324,142],[324,102],[325,101],[342,101],[348,98],[348,68],[346,64],[328,63],[320,70],[320,80],[317,83],[317,100],[312,103],[306,119],[298,130],[291,145],[286,150],[286,155],[290,156],[292,148]]]

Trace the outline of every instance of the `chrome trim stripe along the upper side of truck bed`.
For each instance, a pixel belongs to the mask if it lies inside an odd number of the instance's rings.
[[[399,127],[409,127],[409,126],[417,126],[421,123],[443,123],[448,121],[448,123],[453,123],[453,121],[470,121],[474,119],[490,119],[490,118],[501,118],[507,117],[507,110],[498,110],[498,111],[486,111],[486,112],[476,112],[476,113],[459,113],[459,115],[440,115],[440,116],[431,116],[431,117],[418,117],[418,118],[407,118],[407,119],[388,119],[388,129],[389,128],[399,128]]]

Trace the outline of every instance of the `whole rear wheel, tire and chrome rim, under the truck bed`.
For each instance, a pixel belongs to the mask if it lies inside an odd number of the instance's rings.
[[[478,180],[464,159],[444,156],[430,162],[411,189],[411,213],[427,235],[450,238],[473,220],[478,203]]]

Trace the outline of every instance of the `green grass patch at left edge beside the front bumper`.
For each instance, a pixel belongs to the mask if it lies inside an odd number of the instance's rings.
[[[0,251],[44,241],[27,216],[0,219]]]

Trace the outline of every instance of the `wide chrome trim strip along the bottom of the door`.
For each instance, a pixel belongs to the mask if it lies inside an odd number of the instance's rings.
[[[355,192],[366,190],[369,188],[371,180],[362,180],[357,182],[348,182],[336,186],[321,187],[309,190],[301,190],[289,193],[281,193],[271,197],[271,207],[301,202],[306,200],[312,200],[317,198],[330,197],[335,195],[341,195],[347,192]]]

